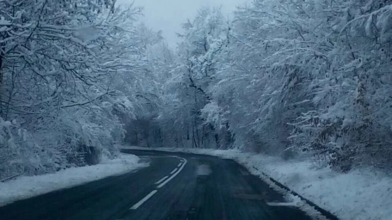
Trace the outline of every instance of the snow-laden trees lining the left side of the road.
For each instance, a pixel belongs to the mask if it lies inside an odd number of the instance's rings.
[[[0,1],[0,179],[116,156],[162,37],[114,2]]]

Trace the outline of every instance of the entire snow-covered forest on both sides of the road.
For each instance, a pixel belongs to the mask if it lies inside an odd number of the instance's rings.
[[[170,48],[115,0],[0,0],[0,179],[116,143],[392,169],[392,0],[200,8]]]

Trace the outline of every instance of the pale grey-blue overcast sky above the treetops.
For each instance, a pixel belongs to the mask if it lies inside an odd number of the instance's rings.
[[[133,0],[117,0],[130,3]],[[136,5],[144,7],[144,22],[154,30],[162,30],[171,47],[178,39],[175,33],[181,32],[181,23],[193,19],[202,6],[222,6],[225,15],[231,14],[238,5],[248,0],[135,0]]]

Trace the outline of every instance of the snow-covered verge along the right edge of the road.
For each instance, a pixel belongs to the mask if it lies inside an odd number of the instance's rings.
[[[132,149],[146,149],[130,147]],[[268,176],[289,187],[341,220],[391,220],[392,177],[376,170],[337,173],[317,167],[313,161],[284,161],[264,154],[239,150],[175,149],[151,150],[208,154],[234,159],[252,174],[269,181]],[[266,176],[267,175],[267,176]],[[276,185],[273,186],[276,188]]]

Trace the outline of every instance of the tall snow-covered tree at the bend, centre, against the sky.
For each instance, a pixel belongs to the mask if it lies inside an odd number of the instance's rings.
[[[183,24],[177,59],[167,84],[164,111],[157,118],[163,137],[175,146],[228,148],[232,134],[228,123],[206,121],[202,109],[212,102],[211,89],[224,59],[230,26],[220,9],[202,8],[193,21]]]

